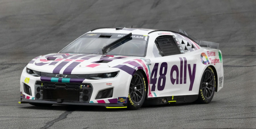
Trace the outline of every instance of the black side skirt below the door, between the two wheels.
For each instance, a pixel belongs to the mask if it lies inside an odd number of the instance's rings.
[[[163,103],[162,99],[166,98],[166,102]],[[146,98],[143,105],[161,105],[167,103],[191,103],[196,101],[198,95],[180,95],[180,96],[166,96],[166,97],[152,97]]]

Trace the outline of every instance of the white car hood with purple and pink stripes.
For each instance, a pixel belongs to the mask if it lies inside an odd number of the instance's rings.
[[[28,63],[27,67],[41,72],[53,71],[53,73],[58,73],[58,71],[60,71],[64,67],[66,67],[65,70],[74,69],[75,67],[112,68],[122,63],[126,63],[127,61],[138,58],[142,57],[99,54],[51,53],[48,55],[36,57]],[[71,71],[72,70],[69,70],[70,74]]]

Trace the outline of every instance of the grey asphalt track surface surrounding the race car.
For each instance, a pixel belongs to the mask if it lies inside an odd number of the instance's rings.
[[[256,128],[256,1],[0,1],[0,128]],[[50,108],[18,104],[24,65],[98,27],[174,30],[220,43],[224,88],[210,104]]]

